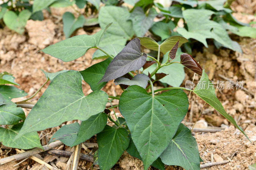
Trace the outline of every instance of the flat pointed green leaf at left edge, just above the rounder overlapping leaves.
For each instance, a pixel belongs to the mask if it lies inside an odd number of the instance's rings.
[[[23,90],[20,90],[17,87],[10,85],[0,85],[0,94],[3,96],[4,99],[7,100],[28,95],[28,93],[24,92]]]

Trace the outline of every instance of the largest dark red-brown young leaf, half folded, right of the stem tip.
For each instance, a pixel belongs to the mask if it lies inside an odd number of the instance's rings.
[[[196,60],[194,60],[194,58],[191,55],[185,54],[185,53],[181,54],[180,63],[185,67],[187,67],[189,70],[192,70],[196,74],[199,74],[200,76],[202,76],[202,73],[203,73],[202,67],[200,66],[200,64],[196,62]]]

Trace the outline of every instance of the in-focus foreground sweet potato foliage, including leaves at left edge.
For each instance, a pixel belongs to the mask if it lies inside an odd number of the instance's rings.
[[[64,62],[83,56],[90,48],[98,48],[103,53],[96,53],[97,56],[107,59],[83,71],[45,72],[51,83],[26,119],[24,112],[10,101],[13,98],[10,95],[15,92],[8,96],[6,92],[10,87],[0,85],[0,124],[6,125],[0,127],[2,144],[21,149],[42,148],[36,131],[80,120],[80,124],[76,122],[61,127],[50,142],[60,140],[68,146],[75,146],[97,134],[101,170],[113,167],[125,150],[141,159],[145,170],[150,165],[164,170],[164,164],[182,166],[186,170],[200,169],[196,140],[181,123],[188,112],[188,96],[183,90],[194,92],[246,136],[216,98],[214,87],[201,66],[191,55],[180,52],[179,47],[188,42],[187,39],[171,36],[159,45],[151,38],[137,37],[116,54],[116,50],[108,48],[107,51],[99,46],[110,25],[93,35],[78,35],[42,49]],[[142,54],[141,45],[157,51],[157,56]],[[164,54],[161,61],[160,52]],[[197,86],[193,90],[179,86],[154,90],[155,81],[172,78],[161,70],[174,64],[199,74],[201,79]],[[82,79],[93,91],[87,96],[82,91]],[[120,96],[109,96],[101,90],[113,79],[123,89]],[[5,76],[0,82],[9,84],[7,80]],[[107,102],[111,103],[113,99],[119,100],[119,104],[106,108]],[[115,114],[116,120],[113,120],[110,109],[114,108],[118,108],[124,118]],[[107,120],[114,125],[107,125]]]

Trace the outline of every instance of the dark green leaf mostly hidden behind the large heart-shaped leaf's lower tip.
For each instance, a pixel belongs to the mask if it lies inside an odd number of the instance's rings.
[[[136,148],[135,144],[132,141],[131,134],[129,134],[129,137],[130,137],[130,144],[129,144],[128,148],[126,149],[126,151],[131,156],[141,160],[140,153],[137,151],[137,148]],[[156,167],[160,170],[164,170],[164,163],[161,161],[161,159],[159,157],[152,163],[151,166],[154,166],[154,167]]]

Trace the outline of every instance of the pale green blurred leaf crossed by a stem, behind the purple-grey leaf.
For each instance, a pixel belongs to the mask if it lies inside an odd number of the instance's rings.
[[[108,46],[102,47],[104,51],[106,51],[108,54],[112,56],[116,56],[118,53],[124,49],[124,45],[118,45],[118,44],[109,44]],[[108,55],[100,51],[99,49],[95,51],[92,55],[92,59],[102,59],[102,58],[108,58]]]

